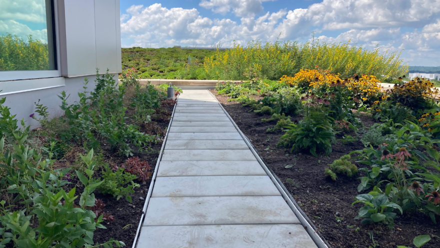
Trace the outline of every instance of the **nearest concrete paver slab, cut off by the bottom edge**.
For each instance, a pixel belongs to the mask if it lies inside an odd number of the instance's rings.
[[[139,248],[316,248],[299,224],[144,226]]]

